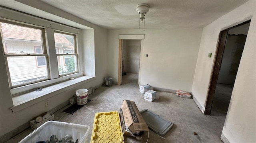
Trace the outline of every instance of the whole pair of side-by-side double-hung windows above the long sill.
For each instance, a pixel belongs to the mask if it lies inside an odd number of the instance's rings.
[[[12,94],[82,75],[76,34],[7,20],[1,20],[0,32],[11,92],[15,90]],[[31,88],[24,86],[28,84]]]

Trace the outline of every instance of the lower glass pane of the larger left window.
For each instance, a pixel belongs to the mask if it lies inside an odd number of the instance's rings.
[[[45,56],[7,57],[13,86],[48,78],[47,68],[38,65],[38,58],[39,65],[46,63]]]

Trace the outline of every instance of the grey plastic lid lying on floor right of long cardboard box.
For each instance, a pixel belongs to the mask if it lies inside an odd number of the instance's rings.
[[[156,134],[164,136],[173,126],[171,121],[168,121],[159,115],[144,109],[140,111],[142,117],[145,119],[145,122],[148,124],[148,128],[154,131]]]

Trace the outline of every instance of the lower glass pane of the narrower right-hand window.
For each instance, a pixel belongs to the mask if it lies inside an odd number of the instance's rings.
[[[64,55],[57,57],[60,75],[77,71],[76,55]]]

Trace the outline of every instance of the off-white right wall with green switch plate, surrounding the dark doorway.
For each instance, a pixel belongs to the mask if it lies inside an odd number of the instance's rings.
[[[256,1],[248,1],[203,29],[196,72],[192,87],[193,99],[204,112],[210,74],[220,31],[251,20],[244,51],[237,72],[222,139],[231,143],[256,142]]]

